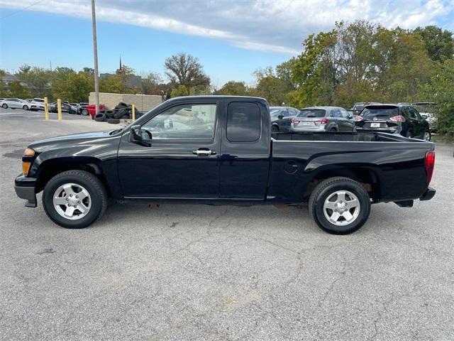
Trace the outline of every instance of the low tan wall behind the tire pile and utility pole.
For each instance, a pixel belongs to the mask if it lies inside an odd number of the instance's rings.
[[[160,96],[155,94],[111,94],[109,92],[99,92],[99,104],[104,104],[109,109],[113,109],[118,102],[134,104],[140,112],[148,112],[162,102]],[[90,92],[89,103],[94,103],[94,92]]]

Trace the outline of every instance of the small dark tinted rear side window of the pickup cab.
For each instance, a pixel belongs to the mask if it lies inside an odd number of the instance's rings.
[[[260,109],[255,103],[231,102],[227,109],[227,139],[253,142],[260,138]]]

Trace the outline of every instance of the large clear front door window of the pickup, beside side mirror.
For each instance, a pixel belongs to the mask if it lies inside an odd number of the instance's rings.
[[[153,140],[213,139],[216,104],[181,104],[158,114],[142,126]]]

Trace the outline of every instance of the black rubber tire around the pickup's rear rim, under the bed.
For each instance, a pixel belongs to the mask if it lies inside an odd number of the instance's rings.
[[[355,220],[342,226],[330,222],[325,216],[323,207],[325,200],[336,191],[349,191],[358,197],[360,203]],[[355,208],[352,207],[351,210],[355,210]],[[353,211],[349,210],[349,212]],[[328,178],[319,183],[312,191],[309,198],[309,213],[323,231],[331,234],[350,234],[360,229],[367,221],[370,215],[370,197],[362,185],[355,180],[343,177]]]

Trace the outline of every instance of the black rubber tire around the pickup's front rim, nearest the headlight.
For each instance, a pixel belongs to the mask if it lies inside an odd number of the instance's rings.
[[[84,217],[77,220],[70,220],[62,217],[53,205],[53,195],[57,188],[65,183],[74,183],[84,187],[90,195],[91,207],[89,212]],[[99,178],[87,171],[65,171],[55,175],[45,185],[43,192],[43,206],[45,213],[48,215],[52,222],[67,229],[82,229],[98,220],[107,207],[107,193],[106,188],[101,183]]]

